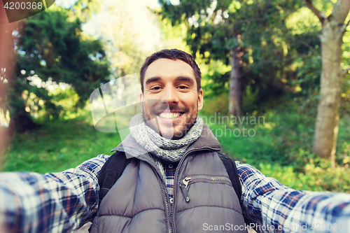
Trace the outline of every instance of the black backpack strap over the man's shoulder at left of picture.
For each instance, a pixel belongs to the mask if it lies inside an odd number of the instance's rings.
[[[114,183],[123,174],[127,164],[130,164],[132,158],[127,159],[125,153],[117,151],[106,161],[101,171],[99,172],[99,203],[104,196],[112,188]]]

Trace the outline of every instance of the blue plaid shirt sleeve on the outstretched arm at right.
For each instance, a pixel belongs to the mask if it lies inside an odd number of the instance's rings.
[[[243,211],[258,232],[350,232],[350,195],[299,191],[236,162]]]

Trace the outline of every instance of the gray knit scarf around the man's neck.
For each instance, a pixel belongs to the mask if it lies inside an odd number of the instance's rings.
[[[195,124],[181,139],[166,139],[146,125],[144,116],[140,113],[135,115],[129,123],[130,133],[140,146],[155,156],[155,162],[163,176],[164,167],[161,161],[179,162],[191,143],[196,141],[202,134],[203,120],[197,117]]]

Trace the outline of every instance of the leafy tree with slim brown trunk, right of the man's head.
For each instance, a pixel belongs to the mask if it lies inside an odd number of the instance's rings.
[[[286,43],[290,34],[284,21],[298,3],[182,0],[173,6],[163,0],[161,13],[172,24],[186,20],[186,42],[193,55],[198,52],[208,62],[215,59],[231,65],[221,80],[230,80],[229,114],[241,115],[244,86],[258,89],[259,97],[283,90],[283,79],[288,76],[285,67],[291,62]]]

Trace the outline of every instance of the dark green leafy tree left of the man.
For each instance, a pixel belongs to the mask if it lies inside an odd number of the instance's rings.
[[[80,97],[77,106],[109,76],[100,41],[83,36],[80,20],[68,18],[69,10],[50,8],[24,20],[13,33],[17,61],[8,79],[8,104],[10,127],[18,132],[36,127],[26,104],[29,96],[50,115],[57,117],[60,111],[47,90],[29,84],[28,76],[70,84]]]

